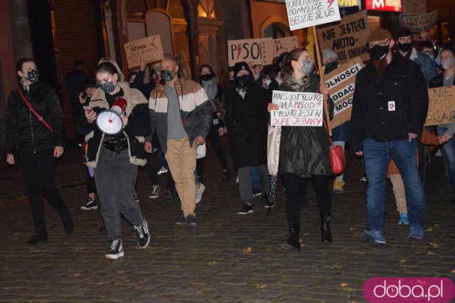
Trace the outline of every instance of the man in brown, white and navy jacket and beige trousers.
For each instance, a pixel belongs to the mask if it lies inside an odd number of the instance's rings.
[[[152,151],[151,138],[156,131],[183,210],[176,224],[196,226],[196,147],[210,132],[213,107],[198,83],[178,77],[176,60],[164,58],[161,68],[165,83],[151,91],[151,134],[144,148]]]

